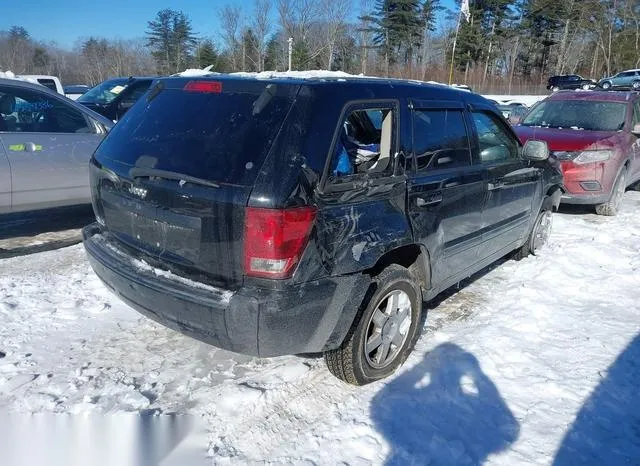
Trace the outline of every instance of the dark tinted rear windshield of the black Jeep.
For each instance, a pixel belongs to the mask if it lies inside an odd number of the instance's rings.
[[[253,184],[293,103],[292,86],[223,81],[220,92],[193,92],[183,89],[187,82],[152,88],[113,128],[96,159],[132,167],[151,160],[159,170]]]

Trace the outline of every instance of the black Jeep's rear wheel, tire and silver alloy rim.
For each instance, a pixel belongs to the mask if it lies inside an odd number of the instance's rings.
[[[390,265],[375,279],[377,289],[342,345],[324,354],[329,371],[353,385],[391,375],[415,345],[422,292],[411,273]]]

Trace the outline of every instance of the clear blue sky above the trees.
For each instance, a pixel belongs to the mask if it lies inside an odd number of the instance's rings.
[[[24,27],[31,37],[55,41],[63,48],[73,48],[78,39],[89,36],[132,39],[144,36],[147,22],[163,8],[182,10],[191,18],[200,37],[218,40],[217,10],[236,4],[251,11],[253,0],[181,0],[159,3],[157,0],[0,0],[0,30]],[[275,14],[275,0],[273,13]],[[355,5],[358,0],[353,0]],[[452,7],[454,0],[442,0]]]

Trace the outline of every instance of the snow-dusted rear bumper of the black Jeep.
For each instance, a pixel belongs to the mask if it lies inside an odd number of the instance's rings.
[[[337,348],[371,283],[357,274],[282,290],[244,287],[231,292],[137,266],[97,224],[82,233],[93,270],[131,307],[185,335],[252,356]]]

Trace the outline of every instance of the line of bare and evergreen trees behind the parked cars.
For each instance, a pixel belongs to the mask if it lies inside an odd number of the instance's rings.
[[[549,75],[600,78],[640,67],[638,0],[471,0],[470,17],[440,0],[254,0],[220,8],[216,37],[163,9],[140,39],[89,37],[72,50],[0,31],[0,69],[54,74],[65,83],[112,76],[331,69],[446,82],[484,92],[533,92]],[[452,57],[459,23],[455,57]]]

